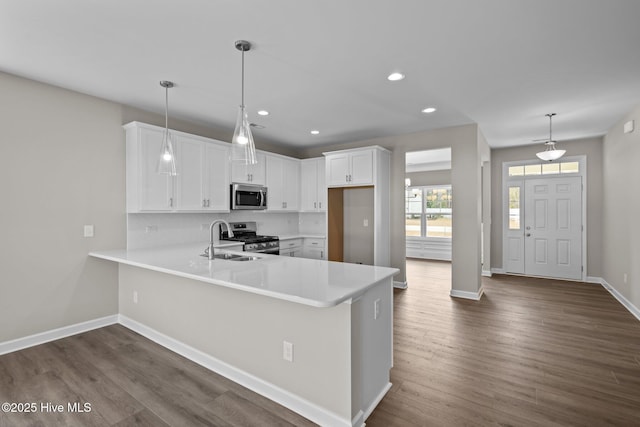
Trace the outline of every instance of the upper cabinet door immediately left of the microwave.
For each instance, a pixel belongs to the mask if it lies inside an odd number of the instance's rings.
[[[210,211],[229,210],[229,147],[205,143],[205,204]]]

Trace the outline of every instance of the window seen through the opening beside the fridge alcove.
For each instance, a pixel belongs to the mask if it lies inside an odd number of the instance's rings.
[[[405,193],[407,236],[451,238],[451,186],[412,187]]]

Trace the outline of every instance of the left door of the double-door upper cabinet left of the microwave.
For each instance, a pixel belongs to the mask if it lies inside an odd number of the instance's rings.
[[[183,136],[176,139],[177,210],[199,211],[206,208],[204,191],[206,168],[203,153],[202,141]]]

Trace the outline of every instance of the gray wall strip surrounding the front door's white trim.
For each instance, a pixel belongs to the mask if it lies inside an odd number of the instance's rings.
[[[587,275],[602,277],[602,138],[562,141],[567,156],[587,156]],[[491,267],[502,268],[502,164],[531,160],[542,144],[491,150]]]

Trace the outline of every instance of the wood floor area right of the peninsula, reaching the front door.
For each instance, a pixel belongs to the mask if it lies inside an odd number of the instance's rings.
[[[375,426],[639,426],[640,322],[599,285],[485,278],[410,260],[396,291],[393,388]]]

